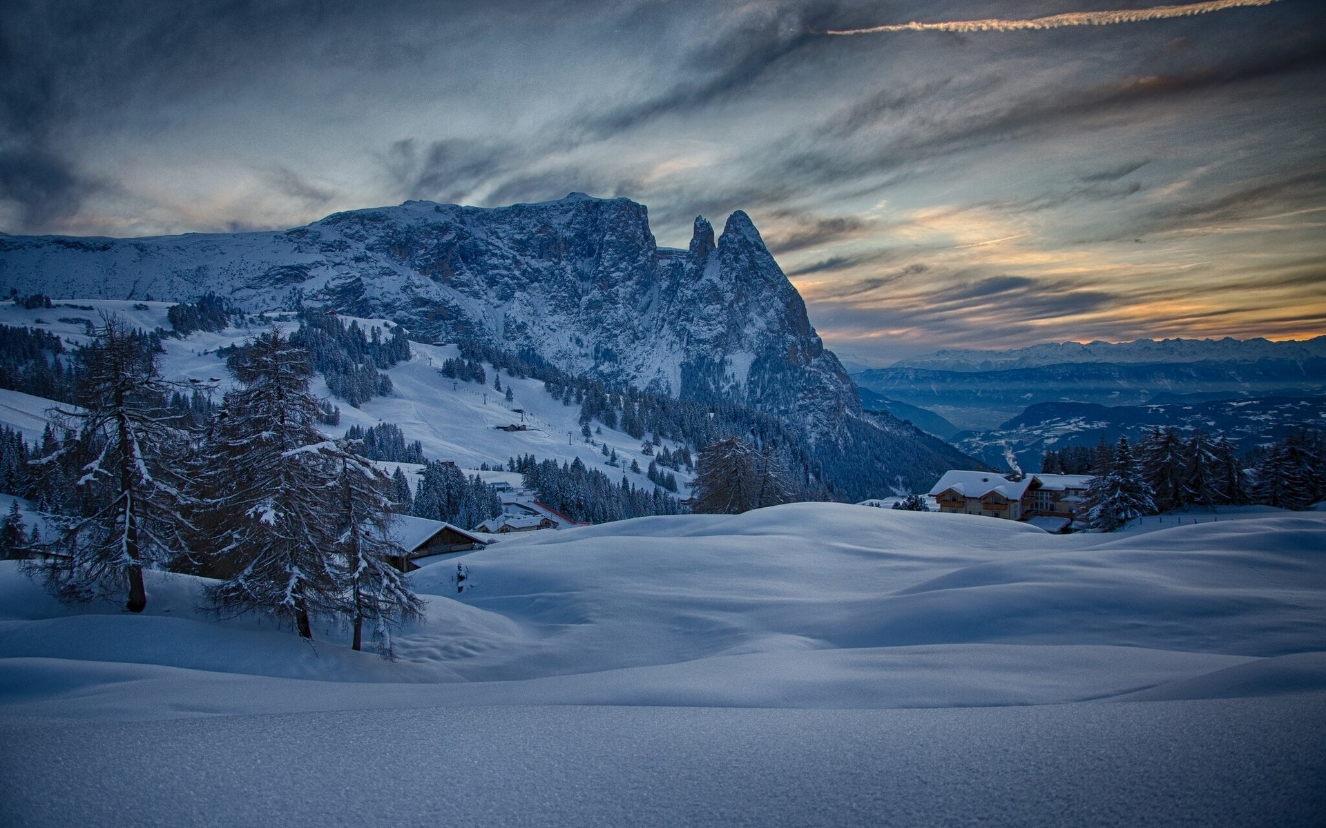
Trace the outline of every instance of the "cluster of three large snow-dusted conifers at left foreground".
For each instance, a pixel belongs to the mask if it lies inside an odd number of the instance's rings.
[[[392,627],[422,611],[391,566],[404,554],[394,484],[362,440],[317,429],[308,351],[274,327],[232,351],[236,388],[199,428],[171,407],[179,387],[142,331],[106,315],[94,334],[77,352],[77,407],[29,450],[29,493],[56,482],[54,531],[24,542],[25,570],[61,599],[118,596],[133,612],[147,605],[145,571],[206,575],[216,617],[259,612],[305,639],[313,619],[338,619],[355,649],[367,631],[390,654]]]

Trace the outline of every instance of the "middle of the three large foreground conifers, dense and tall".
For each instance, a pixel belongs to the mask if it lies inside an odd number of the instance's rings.
[[[231,356],[225,395],[202,456],[210,550],[225,575],[207,588],[221,616],[263,612],[312,639],[310,616],[345,608],[341,452],[317,429],[308,354],[272,329]]]

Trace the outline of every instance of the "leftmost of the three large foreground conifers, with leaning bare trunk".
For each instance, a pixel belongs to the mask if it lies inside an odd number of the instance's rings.
[[[171,386],[156,368],[156,342],[114,314],[102,315],[94,336],[80,351],[80,408],[58,409],[77,439],[40,461],[45,468],[74,456],[84,461],[80,509],[29,571],[64,600],[125,590],[125,607],[142,612],[143,570],[186,548],[178,470],[187,440],[179,415],[167,408]]]

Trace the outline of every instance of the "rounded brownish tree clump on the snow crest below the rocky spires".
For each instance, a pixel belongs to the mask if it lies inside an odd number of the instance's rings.
[[[786,476],[773,448],[761,452],[743,437],[731,436],[700,452],[691,488],[693,511],[739,514],[792,499]]]

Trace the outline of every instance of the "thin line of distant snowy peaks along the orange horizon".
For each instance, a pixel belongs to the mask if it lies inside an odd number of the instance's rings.
[[[1002,371],[1009,368],[1036,368],[1065,363],[1105,362],[1132,363],[1187,363],[1233,362],[1248,363],[1262,359],[1305,362],[1326,358],[1326,336],[1306,340],[1272,342],[1256,339],[1136,339],[1134,342],[1061,342],[1033,344],[1012,351],[941,350],[924,356],[900,359],[894,368],[928,368],[931,371]]]

